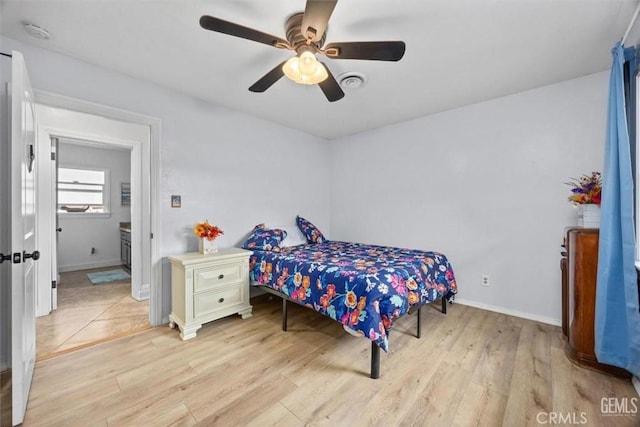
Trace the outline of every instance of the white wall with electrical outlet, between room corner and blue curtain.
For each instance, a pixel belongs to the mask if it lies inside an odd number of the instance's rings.
[[[576,224],[563,183],[602,170],[607,78],[331,142],[331,237],[441,251],[459,300],[559,323],[560,245]]]

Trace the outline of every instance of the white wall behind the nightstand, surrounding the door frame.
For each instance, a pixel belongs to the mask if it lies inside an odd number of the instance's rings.
[[[204,219],[224,230],[221,247],[238,245],[260,222],[292,223],[298,213],[329,232],[324,140],[15,40],[2,42],[24,54],[35,89],[162,120],[161,255],[197,250],[191,229]],[[182,196],[182,208],[170,207],[172,194]],[[170,289],[165,262],[164,318]]]

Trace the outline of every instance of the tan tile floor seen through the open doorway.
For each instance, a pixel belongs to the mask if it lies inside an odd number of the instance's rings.
[[[93,285],[87,273],[120,266],[60,274],[58,309],[36,319],[36,359],[104,342],[151,327],[149,301],[131,297],[131,281]]]

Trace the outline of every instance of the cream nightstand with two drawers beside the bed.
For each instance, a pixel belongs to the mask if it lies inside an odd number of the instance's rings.
[[[251,317],[249,305],[249,256],[251,251],[220,249],[202,255],[188,253],[171,261],[171,314],[169,326],[180,328],[180,337],[196,336],[203,323],[239,314]]]

